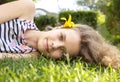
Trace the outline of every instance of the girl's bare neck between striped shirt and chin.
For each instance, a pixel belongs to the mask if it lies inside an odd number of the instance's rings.
[[[35,49],[38,49],[38,40],[42,35],[41,31],[27,30],[24,34],[25,40],[27,43]]]

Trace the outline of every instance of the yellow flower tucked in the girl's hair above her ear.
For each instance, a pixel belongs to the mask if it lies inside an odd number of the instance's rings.
[[[69,14],[69,18],[68,20],[65,17],[60,18],[61,20],[65,20],[65,23],[63,25],[64,28],[73,28],[74,27],[74,23],[71,21],[72,17]]]

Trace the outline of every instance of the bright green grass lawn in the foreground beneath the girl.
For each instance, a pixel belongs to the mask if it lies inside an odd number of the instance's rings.
[[[120,69],[87,64],[80,60],[0,60],[0,82],[120,82]]]

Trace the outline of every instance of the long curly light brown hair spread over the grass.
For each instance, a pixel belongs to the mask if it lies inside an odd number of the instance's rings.
[[[76,31],[80,33],[81,48],[79,56],[89,63],[100,63],[120,68],[120,51],[107,42],[96,30],[87,25],[77,25]]]

